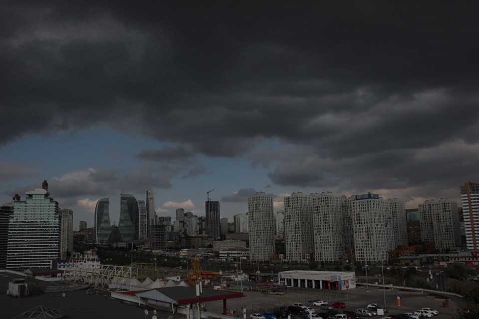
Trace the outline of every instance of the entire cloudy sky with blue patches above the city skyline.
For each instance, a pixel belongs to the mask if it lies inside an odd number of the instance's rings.
[[[475,1],[1,1],[0,200],[49,182],[222,217],[247,196],[459,201],[479,182]]]

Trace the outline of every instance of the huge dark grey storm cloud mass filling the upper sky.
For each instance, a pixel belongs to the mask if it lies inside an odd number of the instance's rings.
[[[475,2],[0,5],[1,144],[109,125],[179,145],[144,160],[295,145],[250,155],[282,185],[479,178]]]

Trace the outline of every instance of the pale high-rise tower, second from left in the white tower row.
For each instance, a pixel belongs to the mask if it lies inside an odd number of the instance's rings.
[[[314,251],[311,201],[303,193],[284,197],[284,244],[288,261],[309,262]]]

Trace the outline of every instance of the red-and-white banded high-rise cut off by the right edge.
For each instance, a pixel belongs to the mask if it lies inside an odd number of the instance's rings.
[[[463,205],[466,245],[471,251],[479,250],[479,184],[468,181],[460,187]]]

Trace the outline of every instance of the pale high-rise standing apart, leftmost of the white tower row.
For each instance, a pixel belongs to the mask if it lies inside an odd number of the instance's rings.
[[[264,192],[248,197],[249,260],[269,261],[275,252],[273,197]]]

